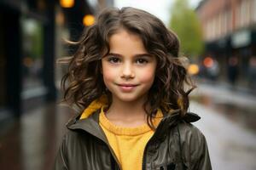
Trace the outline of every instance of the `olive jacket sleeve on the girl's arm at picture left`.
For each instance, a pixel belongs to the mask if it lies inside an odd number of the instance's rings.
[[[66,138],[67,135],[62,139],[61,146],[55,157],[55,170],[68,170]]]

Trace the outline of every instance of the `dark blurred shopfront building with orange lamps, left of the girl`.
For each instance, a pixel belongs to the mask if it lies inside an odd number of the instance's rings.
[[[96,13],[112,5],[113,0],[0,1],[0,122],[56,99],[55,59],[67,47],[61,38],[78,40]]]

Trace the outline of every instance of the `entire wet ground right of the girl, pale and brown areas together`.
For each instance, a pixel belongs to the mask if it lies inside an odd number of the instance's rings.
[[[235,89],[201,84],[192,94],[190,111],[205,134],[212,169],[256,169],[256,99]]]

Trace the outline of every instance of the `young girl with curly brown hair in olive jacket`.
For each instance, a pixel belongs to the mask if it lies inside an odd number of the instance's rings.
[[[190,124],[200,117],[187,111],[194,86],[172,31],[143,10],[108,8],[78,44],[62,86],[82,111],[67,123],[55,169],[212,169]]]

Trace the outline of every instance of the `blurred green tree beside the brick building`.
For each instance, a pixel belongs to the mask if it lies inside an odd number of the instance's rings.
[[[188,0],[175,0],[172,6],[170,28],[177,33],[181,51],[194,59],[203,53],[204,42],[200,21]]]

